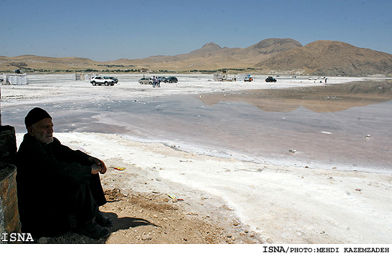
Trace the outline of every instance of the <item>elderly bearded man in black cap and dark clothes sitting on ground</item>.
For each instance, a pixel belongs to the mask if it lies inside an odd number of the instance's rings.
[[[22,232],[55,236],[75,227],[91,238],[108,237],[104,227],[113,223],[98,209],[106,203],[98,174],[106,173],[104,162],[62,145],[42,108],[33,108],[25,124],[15,162]]]

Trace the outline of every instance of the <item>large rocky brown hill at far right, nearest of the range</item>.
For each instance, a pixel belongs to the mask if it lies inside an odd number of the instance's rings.
[[[288,74],[391,76],[392,55],[341,41],[314,41],[265,59],[256,68]]]

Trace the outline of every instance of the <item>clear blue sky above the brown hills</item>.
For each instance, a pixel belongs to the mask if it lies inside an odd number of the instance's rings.
[[[138,59],[268,38],[344,41],[392,54],[391,0],[0,0],[0,10],[7,57]]]

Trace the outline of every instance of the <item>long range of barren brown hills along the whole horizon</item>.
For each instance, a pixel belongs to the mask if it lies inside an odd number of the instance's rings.
[[[144,59],[118,59],[95,62],[80,57],[39,57],[23,55],[1,57],[0,71],[68,70],[189,71],[249,69],[252,73],[318,76],[392,76],[392,55],[367,48],[357,48],[341,41],[314,41],[302,46],[294,39],[264,39],[247,48],[221,47],[213,42],[187,54],[152,56]]]

